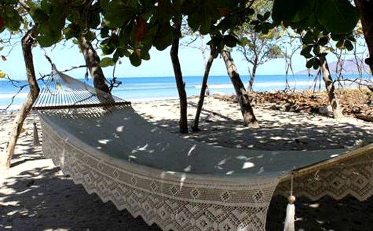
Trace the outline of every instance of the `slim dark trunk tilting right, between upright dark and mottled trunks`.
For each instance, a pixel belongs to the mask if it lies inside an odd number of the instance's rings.
[[[216,53],[216,47],[211,45],[210,46],[210,56],[208,57],[208,61],[207,61],[206,66],[204,68],[200,99],[198,100],[196,117],[194,118],[194,124],[192,126],[192,131],[193,132],[200,131],[199,128],[198,128],[198,124],[199,124],[199,121],[200,121],[200,115],[201,115],[202,106],[203,106],[204,94],[205,94],[205,91],[206,91],[206,88],[207,88],[208,74],[210,73],[212,62],[214,62],[215,53]]]

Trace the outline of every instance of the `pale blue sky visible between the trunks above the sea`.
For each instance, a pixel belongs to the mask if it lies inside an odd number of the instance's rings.
[[[7,58],[6,61],[0,60],[0,70],[7,73],[12,79],[26,80],[26,71],[21,46],[15,46],[9,55],[8,52],[9,48],[7,47],[0,51],[0,55],[6,55]],[[68,43],[66,46],[60,44],[53,48],[47,48],[45,51],[39,47],[35,47],[33,49],[33,55],[35,73],[37,76],[39,76],[39,74],[48,74],[51,71],[51,66],[44,57],[45,52],[51,57],[59,70],[65,70],[72,66],[85,64],[83,54],[79,51],[77,46],[73,46],[72,43]],[[206,52],[207,58],[208,53],[209,52]],[[138,67],[132,66],[128,58],[121,58],[122,63],[116,67],[116,77],[174,76],[170,59],[170,48],[163,51],[158,51],[155,48],[152,48],[150,55],[151,59],[149,61],[143,60],[141,66]],[[237,66],[238,73],[241,76],[248,75],[248,63],[243,59],[243,56],[234,49],[232,57]],[[183,76],[203,76],[203,56],[199,49],[181,47],[179,49],[179,59]],[[293,68],[294,72],[305,69],[305,58],[300,56],[299,52],[294,55]],[[104,73],[107,78],[112,77],[112,70],[112,67],[104,68]],[[83,78],[85,68],[80,68],[79,70],[70,71],[68,73],[76,78]],[[268,63],[259,66],[257,70],[257,75],[276,74],[285,74],[285,61],[283,59],[271,60]],[[227,70],[221,57],[214,60],[210,75],[227,75]]]

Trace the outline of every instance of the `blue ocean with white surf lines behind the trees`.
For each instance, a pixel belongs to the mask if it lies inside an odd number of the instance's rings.
[[[348,75],[345,78],[354,79],[357,76]],[[257,75],[254,81],[254,91],[271,91],[284,90],[286,88],[285,75]],[[371,78],[366,76],[365,78]],[[202,77],[201,76],[186,76],[183,78],[186,83],[186,94],[188,97],[200,94]],[[113,89],[113,95],[129,100],[129,101],[147,101],[158,99],[177,99],[178,92],[174,77],[128,77],[118,78],[122,84]],[[248,85],[249,77],[241,76],[241,80],[245,87]],[[304,90],[313,89],[315,86],[315,77],[308,75],[289,75],[288,84],[290,89]],[[84,80],[82,80],[84,81]],[[91,80],[87,81],[92,84]],[[17,86],[27,85],[26,81],[14,83]],[[39,82],[43,86],[42,82]],[[316,88],[324,88],[324,83],[320,79],[316,83]],[[225,93],[235,94],[233,85],[228,76],[210,76],[208,78],[208,89],[210,94]],[[28,86],[25,86],[17,95],[18,87],[14,86],[10,81],[0,81],[0,109],[6,108],[9,104],[9,109],[18,109],[23,103],[29,92]],[[12,98],[13,102],[12,102]]]

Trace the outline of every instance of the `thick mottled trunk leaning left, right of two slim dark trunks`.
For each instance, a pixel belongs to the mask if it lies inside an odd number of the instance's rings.
[[[227,67],[229,78],[231,79],[235,88],[239,106],[241,107],[243,120],[248,127],[258,128],[259,123],[255,118],[253,108],[250,104],[250,97],[247,94],[241,79],[239,78],[236,65],[233,63],[233,59],[231,57],[231,52],[226,46],[224,46],[224,49],[221,51],[221,55],[223,56],[225,66]]]

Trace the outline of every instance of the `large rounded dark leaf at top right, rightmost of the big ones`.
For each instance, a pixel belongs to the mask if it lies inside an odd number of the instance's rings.
[[[360,14],[349,0],[317,0],[316,17],[326,30],[341,34],[354,30]]]

